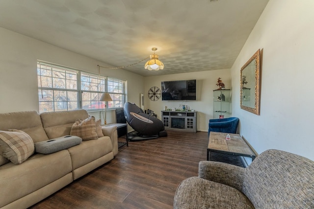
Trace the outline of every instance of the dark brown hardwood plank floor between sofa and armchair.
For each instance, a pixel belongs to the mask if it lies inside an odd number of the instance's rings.
[[[113,160],[31,209],[172,209],[177,186],[198,175],[207,146],[207,132],[130,141]]]

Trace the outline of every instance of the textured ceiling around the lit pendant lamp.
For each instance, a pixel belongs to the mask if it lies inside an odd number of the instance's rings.
[[[229,69],[268,0],[1,0],[0,27],[154,76]],[[47,60],[49,61],[49,60]],[[107,66],[109,67],[109,66]]]

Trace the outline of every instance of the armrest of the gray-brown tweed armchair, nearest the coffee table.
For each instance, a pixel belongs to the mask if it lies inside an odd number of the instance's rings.
[[[245,168],[228,163],[201,161],[198,169],[200,178],[232,186],[242,191]]]

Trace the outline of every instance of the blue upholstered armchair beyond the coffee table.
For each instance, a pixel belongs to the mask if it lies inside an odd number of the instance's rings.
[[[239,118],[228,117],[221,119],[210,119],[208,124],[208,135],[211,131],[236,134]]]

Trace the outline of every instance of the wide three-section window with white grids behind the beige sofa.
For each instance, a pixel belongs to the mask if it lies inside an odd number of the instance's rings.
[[[110,93],[108,108],[123,107],[125,81],[43,62],[37,62],[39,112],[75,109],[97,110],[105,107],[99,101]]]

